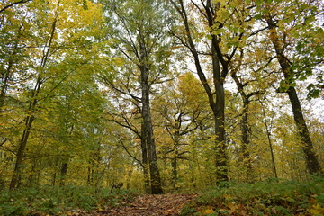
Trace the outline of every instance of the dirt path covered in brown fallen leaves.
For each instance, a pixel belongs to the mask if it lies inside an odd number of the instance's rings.
[[[184,205],[191,202],[197,194],[163,194],[139,196],[128,206],[96,211],[98,216],[160,216],[178,215]]]

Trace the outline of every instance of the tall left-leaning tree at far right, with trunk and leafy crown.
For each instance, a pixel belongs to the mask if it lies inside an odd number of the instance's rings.
[[[297,79],[311,76],[314,68],[323,62],[323,52],[320,51],[323,45],[320,32],[323,30],[315,23],[316,15],[320,13],[320,2],[284,0],[257,5],[284,76],[278,92],[289,96],[309,173],[320,173],[320,163],[295,87]]]

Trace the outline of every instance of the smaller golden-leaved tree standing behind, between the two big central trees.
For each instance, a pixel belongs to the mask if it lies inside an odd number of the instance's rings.
[[[195,85],[195,88],[192,86]],[[178,166],[181,160],[188,160],[189,135],[202,128],[211,113],[206,110],[208,99],[202,85],[193,74],[185,73],[163,88],[163,96],[154,102],[155,123],[161,128],[157,141],[161,143],[161,155],[170,160],[171,185],[178,189]]]

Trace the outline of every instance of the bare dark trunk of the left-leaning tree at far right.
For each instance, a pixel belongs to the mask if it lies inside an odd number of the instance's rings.
[[[280,67],[284,73],[285,84],[289,86],[286,93],[288,94],[292,104],[293,119],[296,123],[299,136],[302,138],[302,150],[306,157],[306,168],[310,174],[320,173],[320,163],[313,149],[310,131],[308,130],[304,120],[302,106],[298,99],[296,89],[292,85],[293,71],[291,70],[291,63],[284,56],[284,43],[278,36],[273,19],[270,17],[266,21],[270,30],[270,40],[275,47],[276,58],[278,59]]]

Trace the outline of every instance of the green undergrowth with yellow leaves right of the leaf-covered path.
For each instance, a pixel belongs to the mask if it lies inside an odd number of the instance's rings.
[[[208,188],[182,215],[324,215],[324,178],[305,182],[229,182]]]

